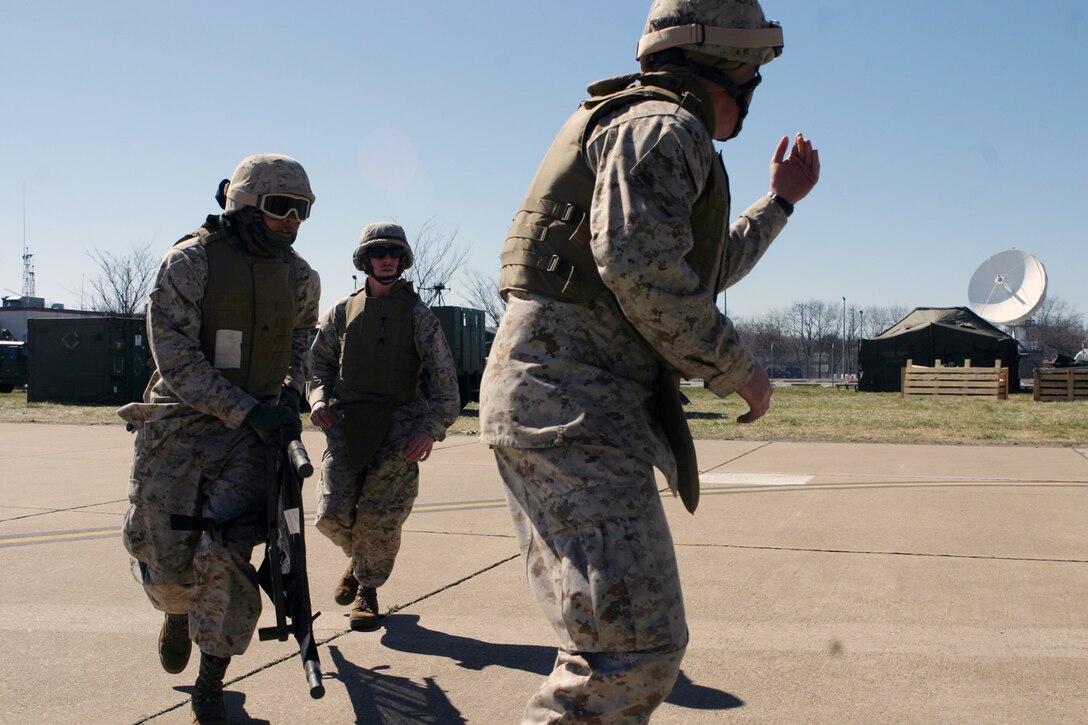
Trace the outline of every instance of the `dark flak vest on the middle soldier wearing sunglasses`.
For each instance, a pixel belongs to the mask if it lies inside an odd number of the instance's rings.
[[[406,405],[419,398],[422,360],[416,349],[413,310],[419,296],[398,280],[390,294],[355,292],[345,306],[341,370],[334,395],[346,402],[388,400]]]

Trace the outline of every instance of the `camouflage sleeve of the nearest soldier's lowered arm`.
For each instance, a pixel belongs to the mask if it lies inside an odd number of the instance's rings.
[[[752,355],[684,260],[692,206],[716,162],[705,131],[682,116],[641,116],[596,134],[586,152],[596,170],[593,255],[623,315],[683,377],[708,381],[721,396],[743,386]],[[750,239],[743,226],[737,233]],[[738,255],[726,277],[740,279],[763,249]]]

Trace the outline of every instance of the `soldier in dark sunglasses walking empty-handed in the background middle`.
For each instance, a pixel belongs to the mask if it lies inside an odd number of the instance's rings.
[[[353,629],[370,629],[419,491],[419,462],[445,439],[460,397],[437,318],[399,279],[412,262],[404,230],[368,224],[354,259],[367,279],[321,319],[309,402],[326,440],[317,528],[349,560],[334,598],[354,602]]]

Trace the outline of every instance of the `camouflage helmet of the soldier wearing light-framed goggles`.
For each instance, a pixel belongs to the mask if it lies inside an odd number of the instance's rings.
[[[275,199],[279,206],[269,204],[264,208],[267,196],[284,198]],[[299,204],[290,204],[292,198]],[[244,207],[257,207],[263,213],[279,218],[294,212],[302,221],[309,216],[309,205],[316,199],[302,164],[282,153],[256,153],[244,158],[231,175],[224,211],[232,213]]]

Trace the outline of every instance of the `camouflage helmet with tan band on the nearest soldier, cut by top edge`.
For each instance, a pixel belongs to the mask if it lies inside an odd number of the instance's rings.
[[[758,0],[654,0],[635,57],[668,48],[763,65],[781,54],[782,28]]]

